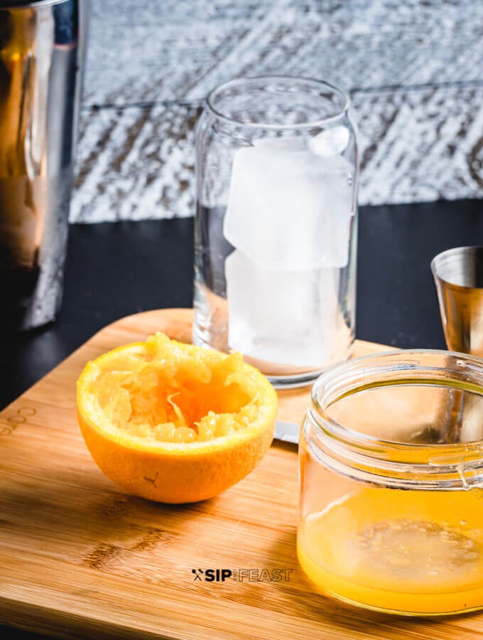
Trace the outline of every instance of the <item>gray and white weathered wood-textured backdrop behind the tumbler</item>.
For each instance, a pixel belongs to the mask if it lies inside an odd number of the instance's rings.
[[[261,73],[349,91],[361,204],[483,197],[483,0],[93,5],[72,221],[193,215],[200,102]]]

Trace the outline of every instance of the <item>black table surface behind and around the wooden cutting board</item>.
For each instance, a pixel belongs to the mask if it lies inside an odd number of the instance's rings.
[[[191,218],[71,225],[63,306],[55,323],[4,335],[6,407],[103,326],[148,309],[192,305]],[[430,261],[483,244],[483,202],[437,201],[360,210],[357,338],[445,348]],[[9,629],[2,637],[24,636]]]

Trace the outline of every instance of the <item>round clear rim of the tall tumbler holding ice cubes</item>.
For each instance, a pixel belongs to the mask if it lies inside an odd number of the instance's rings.
[[[269,124],[264,122],[244,122],[240,119],[233,118],[224,114],[222,111],[215,107],[215,98],[217,95],[226,91],[232,87],[242,87],[243,85],[249,84],[250,82],[269,82],[269,81],[283,81],[287,80],[295,83],[305,83],[310,84],[313,87],[318,87],[319,89],[324,87],[326,90],[330,90],[333,93],[337,94],[342,99],[342,107],[337,110],[337,112],[331,116],[322,117],[314,120],[309,120],[308,122],[303,122],[300,124]],[[222,84],[217,85],[217,87],[213,88],[207,95],[205,104],[212,112],[215,117],[222,119],[224,122],[229,122],[229,124],[234,124],[241,127],[248,127],[252,129],[266,129],[267,131],[289,131],[291,129],[314,129],[316,127],[326,127],[327,124],[333,124],[335,122],[339,122],[341,119],[347,116],[347,112],[349,111],[349,107],[351,104],[349,95],[340,87],[336,85],[332,85],[330,82],[326,82],[325,80],[315,80],[314,78],[298,78],[297,76],[292,75],[256,75],[256,76],[246,76],[242,78],[233,78],[232,80],[227,80],[227,82],[222,82]]]

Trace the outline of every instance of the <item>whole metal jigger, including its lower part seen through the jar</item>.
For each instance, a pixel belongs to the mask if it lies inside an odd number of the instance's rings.
[[[433,258],[431,271],[447,348],[483,357],[483,247],[443,251]],[[461,391],[452,403],[449,441],[483,440],[483,398]]]

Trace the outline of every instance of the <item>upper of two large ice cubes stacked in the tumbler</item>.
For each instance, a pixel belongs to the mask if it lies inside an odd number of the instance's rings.
[[[261,139],[234,155],[223,233],[269,269],[344,267],[353,213],[352,166],[302,138]]]

